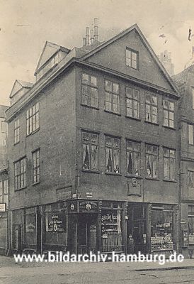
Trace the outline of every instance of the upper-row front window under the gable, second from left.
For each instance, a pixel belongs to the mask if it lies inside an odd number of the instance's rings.
[[[105,80],[105,110],[120,113],[119,85]]]

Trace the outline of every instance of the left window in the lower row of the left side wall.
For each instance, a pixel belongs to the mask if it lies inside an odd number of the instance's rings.
[[[15,190],[26,186],[26,159],[22,158],[14,163]]]

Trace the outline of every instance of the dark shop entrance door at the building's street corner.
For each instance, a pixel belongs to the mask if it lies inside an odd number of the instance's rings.
[[[96,214],[79,214],[77,224],[77,252],[96,252]]]

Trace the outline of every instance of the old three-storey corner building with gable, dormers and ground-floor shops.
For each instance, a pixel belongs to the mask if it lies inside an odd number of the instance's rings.
[[[178,91],[137,25],[47,42],[8,121],[12,251],[178,251]]]

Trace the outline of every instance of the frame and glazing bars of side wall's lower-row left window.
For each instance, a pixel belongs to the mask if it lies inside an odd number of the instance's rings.
[[[21,166],[22,163],[22,166]],[[23,157],[19,160],[16,160],[16,162],[13,163],[13,168],[14,168],[14,190],[21,190],[26,187],[26,164],[27,160],[26,157]],[[18,168],[17,165],[19,165]],[[23,168],[23,172],[21,172],[21,168]],[[19,173],[16,175],[16,170],[19,170]],[[23,186],[21,186],[21,178],[23,180]],[[19,182],[18,182],[19,179]]]

